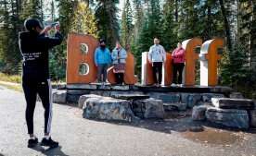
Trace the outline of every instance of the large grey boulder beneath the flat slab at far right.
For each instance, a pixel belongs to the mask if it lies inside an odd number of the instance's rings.
[[[211,107],[206,111],[206,118],[212,123],[223,126],[247,129],[249,128],[249,115],[246,110],[221,109]]]

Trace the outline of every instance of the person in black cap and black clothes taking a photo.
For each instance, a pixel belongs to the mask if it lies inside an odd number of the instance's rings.
[[[43,27],[36,18],[28,18],[24,22],[26,31],[19,32],[19,50],[23,57],[22,62],[22,87],[27,102],[26,122],[28,126],[28,147],[33,148],[38,143],[38,138],[33,133],[33,113],[37,94],[45,108],[45,137],[42,146],[58,147],[58,142],[50,137],[52,122],[52,92],[49,77],[48,50],[60,44],[63,40],[59,33],[59,25],[55,26],[55,37],[47,37],[47,31],[52,26]]]

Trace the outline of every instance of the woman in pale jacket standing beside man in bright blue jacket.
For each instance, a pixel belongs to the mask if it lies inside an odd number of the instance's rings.
[[[123,83],[123,76],[125,72],[125,63],[127,53],[120,42],[116,42],[116,47],[113,49],[111,54],[113,65],[114,65],[114,73],[116,77],[117,84],[122,85]]]

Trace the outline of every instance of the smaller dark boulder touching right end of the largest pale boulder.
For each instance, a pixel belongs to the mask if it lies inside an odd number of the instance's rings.
[[[153,98],[135,101],[137,107],[134,112],[143,114],[144,118],[160,118],[164,116],[163,103]],[[135,107],[134,107],[135,108]]]

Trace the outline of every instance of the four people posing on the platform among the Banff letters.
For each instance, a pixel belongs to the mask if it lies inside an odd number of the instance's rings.
[[[109,65],[113,65],[113,72],[117,84],[123,83],[123,76],[125,72],[127,53],[120,42],[116,42],[116,47],[110,53],[109,48],[106,47],[106,41],[99,40],[99,47],[95,52],[95,63],[97,66],[97,81],[105,83],[107,79],[107,70]],[[149,63],[153,67],[153,77],[156,82],[156,86],[161,85],[162,80],[162,66],[166,62],[166,52],[163,46],[160,45],[158,38],[154,39],[154,45],[152,45],[148,52]],[[173,58],[173,84],[182,84],[183,69],[185,66],[185,50],[182,47],[182,43],[178,42],[177,48],[172,53]]]

